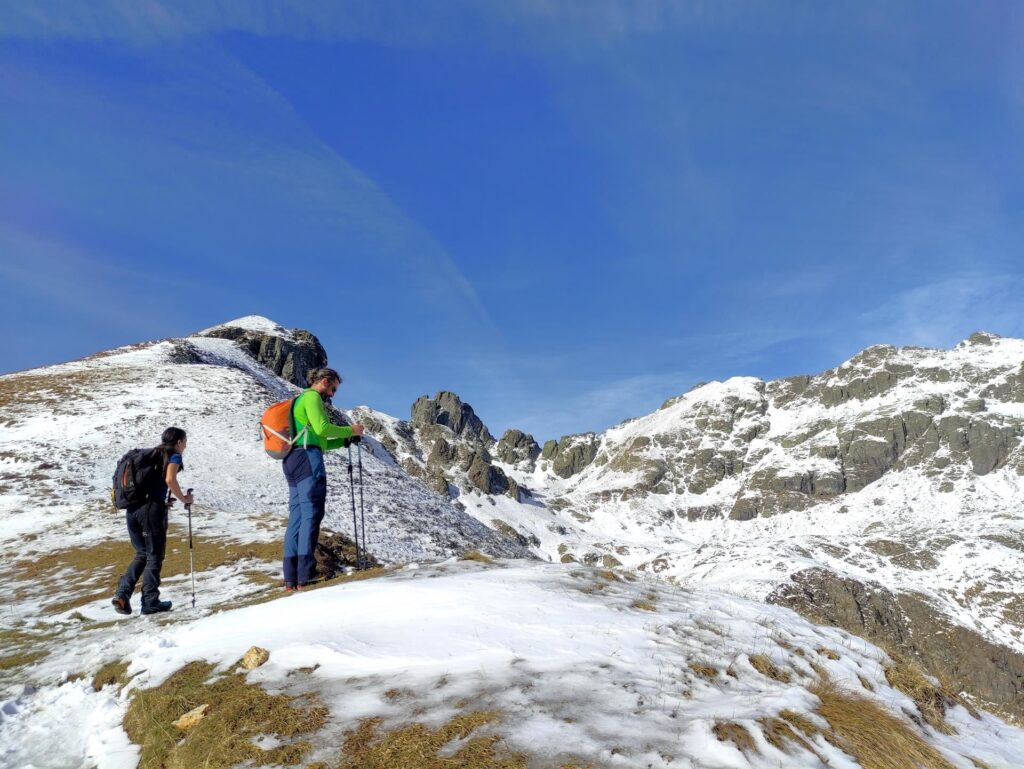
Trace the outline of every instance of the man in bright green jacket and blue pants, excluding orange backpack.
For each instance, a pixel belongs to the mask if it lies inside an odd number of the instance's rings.
[[[334,369],[314,369],[307,378],[309,388],[295,399],[299,439],[285,458],[288,479],[288,529],[285,532],[285,590],[300,590],[313,581],[316,542],[327,503],[327,470],[324,452],[347,445],[346,439],[362,435],[362,425],[343,427],[331,423],[325,401],[341,384]]]

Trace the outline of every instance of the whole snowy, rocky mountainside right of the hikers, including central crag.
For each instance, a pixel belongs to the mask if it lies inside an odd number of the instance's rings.
[[[496,443],[452,393],[390,429],[407,469],[542,556],[770,597],[1024,717],[1020,340],[705,383],[543,450],[519,431]]]

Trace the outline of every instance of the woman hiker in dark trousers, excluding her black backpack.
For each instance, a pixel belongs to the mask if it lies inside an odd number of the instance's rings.
[[[171,602],[160,600],[160,568],[164,565],[167,549],[167,508],[170,499],[167,492],[177,497],[185,505],[193,503],[193,496],[184,494],[178,485],[178,473],[184,470],[181,455],[188,445],[185,431],[179,427],[164,430],[160,445],[154,452],[160,453],[161,472],[156,482],[146,490],[145,501],[128,508],[128,537],[135,548],[135,559],[118,583],[117,593],[111,603],[119,614],[131,613],[131,594],[135,583],[142,578],[142,613],[155,614],[170,611]]]

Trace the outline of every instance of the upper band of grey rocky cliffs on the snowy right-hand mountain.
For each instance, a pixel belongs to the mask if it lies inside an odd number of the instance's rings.
[[[706,383],[600,435],[549,440],[541,459],[572,478],[573,507],[593,484],[588,504],[678,495],[687,517],[749,520],[906,469],[943,490],[1008,465],[1024,474],[1016,402],[1024,347],[979,333],[948,351],[877,345],[816,376]]]

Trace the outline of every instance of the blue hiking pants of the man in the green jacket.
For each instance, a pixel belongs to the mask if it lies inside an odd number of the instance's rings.
[[[285,458],[288,479],[288,529],[285,531],[285,583],[305,585],[316,573],[316,542],[327,503],[327,471],[319,448],[293,448]]]

